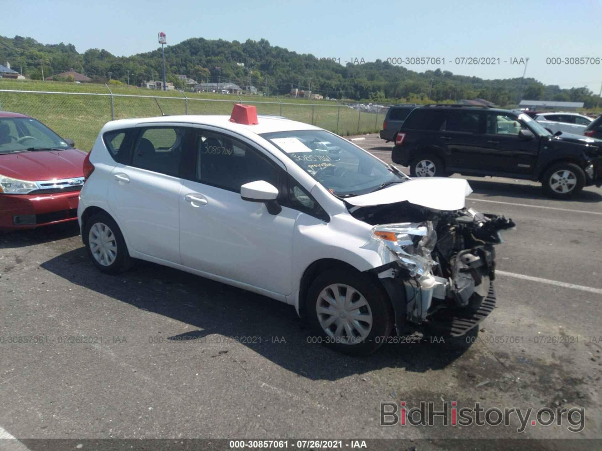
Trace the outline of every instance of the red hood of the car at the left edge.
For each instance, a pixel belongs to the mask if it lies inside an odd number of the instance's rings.
[[[32,182],[83,177],[84,158],[78,149],[5,153],[0,155],[0,175]]]

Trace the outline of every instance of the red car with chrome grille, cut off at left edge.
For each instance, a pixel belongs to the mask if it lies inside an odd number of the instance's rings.
[[[85,152],[40,121],[0,111],[0,230],[76,221]]]

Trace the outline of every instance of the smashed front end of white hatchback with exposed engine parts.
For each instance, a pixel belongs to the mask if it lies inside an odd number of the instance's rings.
[[[396,260],[371,272],[385,286],[398,334],[428,326],[461,336],[495,307],[494,245],[512,219],[464,208],[433,210],[407,201],[355,207],[353,216],[374,225],[372,238]],[[411,222],[399,222],[400,219]]]

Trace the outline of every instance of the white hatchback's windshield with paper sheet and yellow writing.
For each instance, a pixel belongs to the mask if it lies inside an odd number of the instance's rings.
[[[326,130],[261,135],[335,195],[352,196],[401,183],[407,177]]]

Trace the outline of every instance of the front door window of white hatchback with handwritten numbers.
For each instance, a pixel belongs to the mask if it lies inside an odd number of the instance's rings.
[[[242,141],[222,133],[199,130],[195,180],[240,192],[241,185],[264,180],[279,188],[279,169]]]

